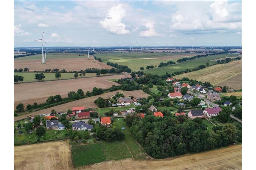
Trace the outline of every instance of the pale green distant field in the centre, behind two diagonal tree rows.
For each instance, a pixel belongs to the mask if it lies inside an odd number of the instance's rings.
[[[139,70],[140,67],[146,67],[148,65],[159,65],[160,62],[177,61],[179,58],[191,57],[198,55],[197,53],[109,53],[109,54],[97,54],[97,57],[101,58],[104,63],[108,61],[127,65],[133,71]]]

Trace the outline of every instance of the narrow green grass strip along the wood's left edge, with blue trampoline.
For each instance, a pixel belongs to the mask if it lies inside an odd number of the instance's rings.
[[[117,123],[119,128],[124,127],[125,129],[122,132],[125,134],[125,142],[132,154],[134,159],[144,159],[146,158],[146,153],[143,148],[137,143],[133,134],[130,131],[130,128],[126,125],[123,118],[115,118],[114,122]]]

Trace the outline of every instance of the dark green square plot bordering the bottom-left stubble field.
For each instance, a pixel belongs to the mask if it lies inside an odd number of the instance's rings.
[[[71,151],[75,167],[106,161],[103,146],[100,143],[72,144]]]

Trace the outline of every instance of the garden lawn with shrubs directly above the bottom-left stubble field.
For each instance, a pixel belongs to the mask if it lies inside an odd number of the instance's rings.
[[[25,128],[21,128],[20,130],[23,133],[19,134],[19,130],[14,133],[14,143],[30,143],[35,142],[38,139],[36,132],[27,133]],[[57,138],[65,138],[66,131],[65,130],[46,130],[43,137],[40,137],[41,141],[57,139]]]

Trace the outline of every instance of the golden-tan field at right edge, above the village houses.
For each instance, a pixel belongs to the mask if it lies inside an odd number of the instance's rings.
[[[242,60],[231,61],[227,64],[217,64],[174,77],[188,77],[202,82],[209,81],[215,86],[226,85],[239,90],[242,89]]]

